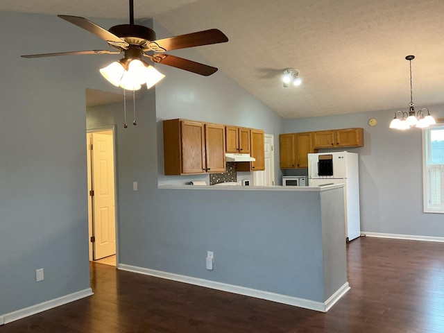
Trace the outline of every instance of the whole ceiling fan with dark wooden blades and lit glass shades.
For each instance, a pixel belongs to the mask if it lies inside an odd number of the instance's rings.
[[[156,39],[155,32],[146,26],[134,24],[134,1],[130,3],[130,24],[112,26],[108,31],[83,17],[58,15],[61,19],[93,33],[105,40],[109,46],[117,51],[71,51],[58,53],[41,53],[22,56],[22,58],[42,58],[53,56],[87,55],[87,54],[119,54],[124,53],[124,58],[100,69],[106,80],[116,87],[133,92],[146,85],[149,89],[158,83],[164,75],[153,66],[148,65],[142,57],[150,59],[157,64],[167,65],[190,71],[202,76],[210,76],[217,71],[216,67],[204,65],[184,58],[171,56],[166,51],[186,49],[194,46],[219,44],[228,42],[228,37],[218,29],[209,29],[178,35],[161,40]],[[135,123],[135,121],[134,121]]]

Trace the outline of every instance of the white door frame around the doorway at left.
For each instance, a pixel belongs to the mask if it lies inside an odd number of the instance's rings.
[[[86,134],[89,133],[98,133],[98,132],[105,132],[111,130],[112,131],[112,156],[113,156],[113,170],[114,170],[114,221],[116,229],[116,267],[119,265],[119,219],[118,219],[118,206],[117,203],[119,200],[117,200],[118,191],[117,191],[117,167],[116,167],[116,156],[117,156],[117,142],[116,142],[116,126],[115,125],[109,125],[109,126],[101,126],[96,128],[90,128],[86,131]],[[93,225],[92,225],[92,196],[89,195],[89,190],[92,189],[92,178],[90,176],[92,175],[92,164],[91,164],[91,151],[90,151],[90,142],[87,142],[87,183],[88,183],[88,248],[89,248],[89,261],[93,261],[93,246],[91,242],[91,237],[93,233]]]

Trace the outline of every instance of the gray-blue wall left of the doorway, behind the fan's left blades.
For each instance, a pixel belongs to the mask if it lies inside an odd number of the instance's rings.
[[[85,88],[110,58],[20,58],[106,47],[53,15],[0,12],[0,40],[1,315],[89,289]]]

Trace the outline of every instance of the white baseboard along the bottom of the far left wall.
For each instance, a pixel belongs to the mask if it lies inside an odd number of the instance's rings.
[[[31,307],[26,307],[25,309],[10,312],[9,314],[3,314],[0,316],[0,318],[3,318],[4,324],[11,323],[12,321],[18,321],[19,319],[32,316],[33,314],[38,314],[39,312],[43,312],[49,309],[53,309],[54,307],[60,307],[60,305],[65,305],[69,302],[74,302],[74,300],[80,300],[80,298],[85,298],[93,294],[94,293],[92,292],[92,289],[88,288],[85,290],[77,291],[76,293],[71,293],[66,296],[55,298],[53,300],[48,300],[46,302],[42,302]]]

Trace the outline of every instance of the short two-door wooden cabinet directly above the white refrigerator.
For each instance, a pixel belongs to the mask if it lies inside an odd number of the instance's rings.
[[[318,130],[313,133],[314,148],[362,147],[363,128],[343,128],[341,130]]]

